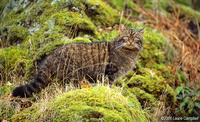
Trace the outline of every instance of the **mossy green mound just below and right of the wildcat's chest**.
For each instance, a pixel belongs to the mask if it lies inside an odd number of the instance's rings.
[[[122,85],[129,94],[134,94],[144,108],[156,107],[158,102],[166,106],[174,105],[176,94],[167,80],[149,68],[141,68],[140,73],[129,72],[116,85]]]

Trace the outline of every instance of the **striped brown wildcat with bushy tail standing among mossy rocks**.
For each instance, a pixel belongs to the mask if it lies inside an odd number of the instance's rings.
[[[143,30],[126,29],[112,42],[73,43],[55,49],[43,58],[30,83],[16,87],[12,96],[30,97],[57,78],[74,82],[86,78],[90,82],[107,76],[113,82],[131,70],[143,46]]]

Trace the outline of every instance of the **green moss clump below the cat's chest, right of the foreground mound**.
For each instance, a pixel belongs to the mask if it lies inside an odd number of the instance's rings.
[[[157,74],[156,70],[140,68],[138,72],[124,81],[127,89],[130,89],[139,99],[145,99],[151,106],[154,106],[155,100],[160,100],[162,95],[166,105],[175,103],[175,91],[162,76]]]

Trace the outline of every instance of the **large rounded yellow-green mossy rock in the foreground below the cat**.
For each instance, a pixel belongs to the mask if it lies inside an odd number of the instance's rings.
[[[64,93],[15,114],[12,121],[126,121],[146,122],[138,100],[124,97],[118,88],[98,86]]]

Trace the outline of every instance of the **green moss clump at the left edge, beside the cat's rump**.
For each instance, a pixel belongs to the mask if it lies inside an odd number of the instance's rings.
[[[1,79],[11,80],[16,75],[23,76],[31,65],[29,51],[18,46],[0,49]]]

